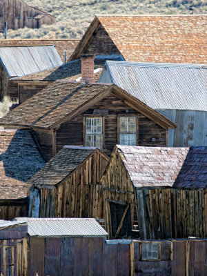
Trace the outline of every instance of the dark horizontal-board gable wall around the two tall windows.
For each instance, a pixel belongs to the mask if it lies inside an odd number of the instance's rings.
[[[110,155],[112,149],[118,141],[117,118],[119,115],[135,115],[137,117],[137,146],[166,146],[166,130],[155,124],[141,113],[130,108],[126,103],[117,99],[113,95],[109,95],[105,99],[99,101],[82,115],[79,115],[71,121],[62,124],[57,130],[57,151],[65,145],[84,146],[83,124],[84,117],[97,113],[101,114],[101,110],[108,114],[104,117],[104,137],[103,151]],[[95,116],[95,115],[94,115]]]

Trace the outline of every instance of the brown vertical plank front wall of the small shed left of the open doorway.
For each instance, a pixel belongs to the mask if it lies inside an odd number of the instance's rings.
[[[40,217],[103,218],[103,195],[99,180],[108,159],[91,155],[56,189],[40,190]]]

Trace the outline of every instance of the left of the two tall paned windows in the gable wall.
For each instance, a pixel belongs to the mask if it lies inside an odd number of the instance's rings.
[[[86,117],[85,145],[103,148],[103,120],[101,117]]]

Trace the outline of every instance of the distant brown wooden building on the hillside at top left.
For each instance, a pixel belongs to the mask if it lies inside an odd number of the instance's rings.
[[[8,29],[40,28],[43,24],[55,23],[55,17],[39,8],[29,6],[22,0],[0,1],[0,30],[3,32],[4,23]]]

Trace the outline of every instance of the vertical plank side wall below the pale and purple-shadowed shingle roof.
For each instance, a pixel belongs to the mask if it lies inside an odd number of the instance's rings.
[[[207,237],[204,189],[137,188],[141,239]]]

